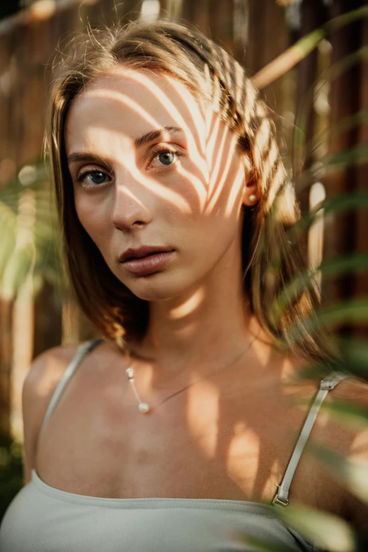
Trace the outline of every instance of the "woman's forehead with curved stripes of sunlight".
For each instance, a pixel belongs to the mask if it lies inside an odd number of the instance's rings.
[[[66,121],[66,148],[90,146],[97,134],[108,148],[112,136],[134,140],[166,126],[183,128],[188,140],[203,146],[205,113],[204,100],[179,80],[118,66],[75,98]]]

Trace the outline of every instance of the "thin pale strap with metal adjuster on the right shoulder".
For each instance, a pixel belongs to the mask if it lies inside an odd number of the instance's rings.
[[[285,475],[283,476],[283,480],[281,481],[281,484],[278,485],[278,491],[274,500],[272,501],[272,504],[279,507],[281,506],[283,508],[288,505],[288,495],[291,482],[293,481],[295,469],[298,466],[300,457],[305,448],[305,444],[307,443],[310,432],[312,431],[312,427],[314,426],[314,421],[316,421],[317,414],[319,412],[319,409],[321,408],[321,404],[322,402],[324,402],[327,393],[331,389],[335,388],[336,385],[341,382],[341,380],[344,380],[348,377],[349,376],[346,373],[333,372],[329,376],[321,380],[319,391],[314,397],[312,407],[309,409],[307,419],[305,420],[304,426],[302,427],[302,431],[293,450],[293,454],[291,455]]]

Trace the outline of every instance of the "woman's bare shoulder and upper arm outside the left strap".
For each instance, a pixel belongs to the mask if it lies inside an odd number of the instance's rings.
[[[35,468],[37,438],[56,385],[76,352],[76,345],[55,347],[32,362],[23,383],[23,465],[25,484]]]

